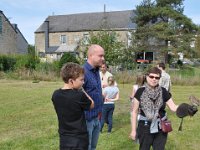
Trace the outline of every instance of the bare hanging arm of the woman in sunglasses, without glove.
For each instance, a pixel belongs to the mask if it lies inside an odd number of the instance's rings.
[[[132,123],[131,123],[131,133],[130,138],[136,140],[136,126],[137,126],[137,115],[139,109],[139,101],[134,98],[133,100],[133,111],[132,111]]]

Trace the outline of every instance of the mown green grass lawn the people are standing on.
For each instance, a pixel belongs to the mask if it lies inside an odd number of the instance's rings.
[[[0,150],[58,150],[57,117],[51,102],[52,92],[62,82],[0,80]],[[100,135],[97,150],[137,150],[131,141],[131,84],[119,85],[120,101],[116,102],[113,132]],[[200,86],[173,86],[177,104],[188,102],[190,94],[200,98]],[[197,150],[200,147],[200,111],[184,119],[183,131],[178,131],[180,119],[168,111],[173,124],[166,150]]]

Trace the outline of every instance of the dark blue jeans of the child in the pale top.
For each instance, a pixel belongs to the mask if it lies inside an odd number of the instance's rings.
[[[101,118],[101,131],[104,123],[108,120],[108,132],[112,130],[113,112],[115,109],[114,104],[103,104],[102,118]]]

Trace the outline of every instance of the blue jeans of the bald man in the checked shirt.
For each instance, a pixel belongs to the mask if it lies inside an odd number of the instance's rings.
[[[100,121],[98,117],[92,119],[91,121],[86,121],[87,130],[89,134],[89,146],[88,150],[95,150],[100,133]]]

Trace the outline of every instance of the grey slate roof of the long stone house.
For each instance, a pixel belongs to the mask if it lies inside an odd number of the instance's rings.
[[[80,13],[70,15],[49,16],[49,32],[80,32],[98,31],[99,29],[135,29],[136,24],[131,18],[135,16],[134,10]],[[45,31],[43,24],[35,31]]]

